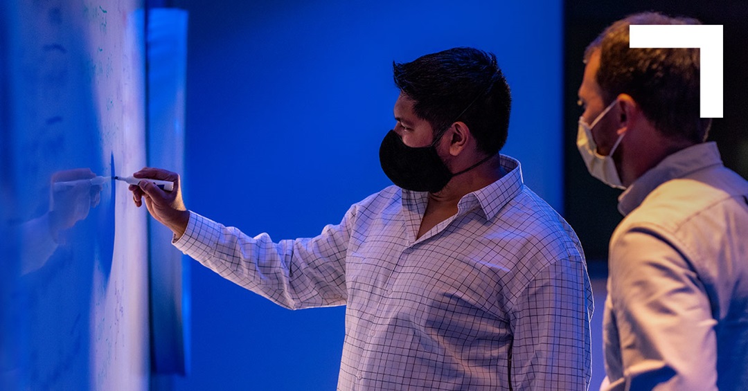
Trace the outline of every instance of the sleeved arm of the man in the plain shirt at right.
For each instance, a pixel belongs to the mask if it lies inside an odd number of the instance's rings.
[[[649,230],[620,235],[610,250],[609,289],[632,390],[716,390],[717,322],[681,252]]]

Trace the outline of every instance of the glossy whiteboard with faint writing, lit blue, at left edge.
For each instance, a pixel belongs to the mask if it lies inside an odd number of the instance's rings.
[[[0,5],[2,390],[148,387],[142,5]]]

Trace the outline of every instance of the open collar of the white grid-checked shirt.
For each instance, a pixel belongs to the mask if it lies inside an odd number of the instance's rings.
[[[516,197],[522,190],[522,168],[520,162],[511,156],[500,155],[500,164],[506,175],[497,179],[485,188],[465,194],[457,203],[458,215],[462,215],[475,208],[480,208],[487,220],[491,220],[499,210]],[[410,191],[402,189],[402,204],[406,209],[414,207],[415,211],[423,215],[426,211],[429,194],[426,191]]]

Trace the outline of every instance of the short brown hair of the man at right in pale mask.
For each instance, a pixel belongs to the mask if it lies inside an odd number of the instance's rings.
[[[666,137],[705,141],[711,119],[699,109],[699,49],[631,49],[630,25],[700,25],[697,19],[656,12],[635,13],[608,26],[584,53],[585,61],[600,50],[596,76],[606,105],[627,93]]]

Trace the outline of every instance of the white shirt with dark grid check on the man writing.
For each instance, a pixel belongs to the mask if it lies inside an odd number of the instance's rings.
[[[416,239],[427,194],[390,186],[316,238],[191,212],[175,245],[283,307],[345,304],[340,390],[586,390],[592,290],[571,227],[506,176]]]

